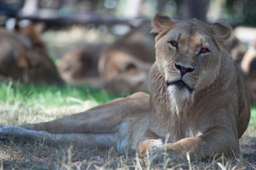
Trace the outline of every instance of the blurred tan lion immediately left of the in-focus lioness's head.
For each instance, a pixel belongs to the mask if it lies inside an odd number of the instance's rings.
[[[100,78],[110,93],[148,91],[148,72],[155,62],[154,37],[143,23],[118,38],[99,59]]]

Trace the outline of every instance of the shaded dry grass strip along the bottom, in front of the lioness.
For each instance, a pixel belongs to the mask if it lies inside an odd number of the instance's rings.
[[[227,163],[225,160],[209,162],[191,162],[183,160],[178,163],[168,163],[167,167],[175,169],[255,169],[256,139],[244,136],[243,159]],[[71,145],[45,145],[38,142],[0,141],[0,159],[3,169],[163,169],[164,165],[148,166],[138,163],[135,153],[117,153],[113,148],[85,148]],[[167,165],[167,164],[166,164]],[[1,167],[0,167],[1,169]]]

